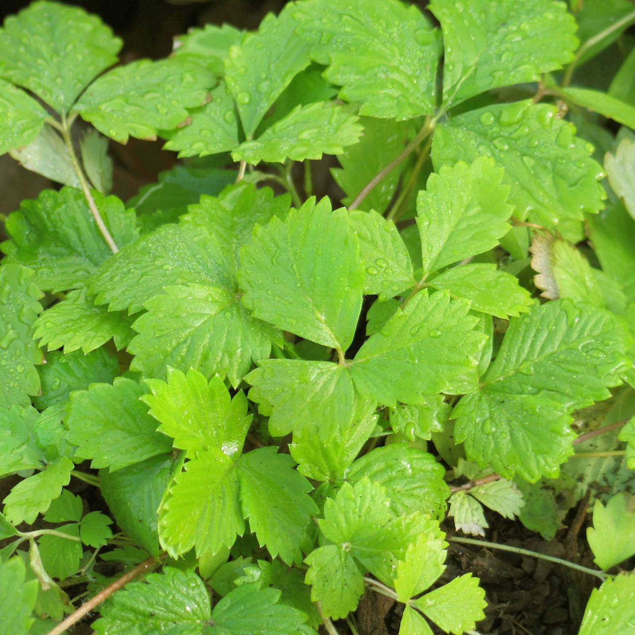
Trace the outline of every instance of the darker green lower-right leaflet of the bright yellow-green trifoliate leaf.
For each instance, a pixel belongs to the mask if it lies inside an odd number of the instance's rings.
[[[312,516],[318,507],[309,496],[311,483],[295,469],[295,461],[277,448],[260,448],[238,460],[241,505],[258,542],[272,558],[300,564],[302,552],[315,541]]]

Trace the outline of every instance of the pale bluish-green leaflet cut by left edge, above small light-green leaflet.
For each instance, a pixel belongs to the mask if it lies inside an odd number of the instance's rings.
[[[31,406],[0,408],[0,476],[42,467],[44,455],[32,430],[37,417]]]

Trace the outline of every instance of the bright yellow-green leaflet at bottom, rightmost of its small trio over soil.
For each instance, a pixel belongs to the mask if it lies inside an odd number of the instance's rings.
[[[454,578],[443,587],[413,600],[418,610],[446,632],[461,635],[485,618],[485,589],[471,573]]]

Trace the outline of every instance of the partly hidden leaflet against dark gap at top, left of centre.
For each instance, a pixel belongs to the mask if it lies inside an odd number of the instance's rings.
[[[172,56],[206,66],[211,72],[222,75],[223,60],[229,47],[239,45],[244,31],[231,24],[206,24],[202,29],[189,29],[186,35],[174,39]]]

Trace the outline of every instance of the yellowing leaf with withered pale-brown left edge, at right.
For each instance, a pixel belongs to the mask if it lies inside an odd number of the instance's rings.
[[[587,259],[572,244],[552,234],[535,234],[531,241],[534,283],[549,300],[569,298],[605,307],[602,289]]]

